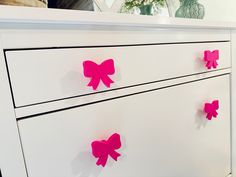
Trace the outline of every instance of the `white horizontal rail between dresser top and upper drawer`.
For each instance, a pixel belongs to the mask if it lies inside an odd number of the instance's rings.
[[[9,29],[10,28],[10,29]],[[13,29],[12,29],[13,28]],[[11,24],[1,30],[5,49],[94,45],[130,45],[230,40],[226,29],[170,29],[53,24]]]

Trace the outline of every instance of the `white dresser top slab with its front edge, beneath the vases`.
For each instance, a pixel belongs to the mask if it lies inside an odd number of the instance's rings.
[[[236,29],[236,22],[0,5],[0,24],[9,23]]]

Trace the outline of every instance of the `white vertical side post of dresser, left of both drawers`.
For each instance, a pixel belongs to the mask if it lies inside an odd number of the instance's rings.
[[[9,87],[0,37],[0,170],[3,177],[26,177]]]

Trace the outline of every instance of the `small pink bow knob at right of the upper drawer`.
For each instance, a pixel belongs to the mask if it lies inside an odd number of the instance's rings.
[[[214,50],[213,52],[206,50],[204,51],[204,61],[206,62],[207,69],[217,68],[219,60],[219,50]]]

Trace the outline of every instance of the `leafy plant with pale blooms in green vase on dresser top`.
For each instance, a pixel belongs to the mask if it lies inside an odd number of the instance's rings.
[[[130,10],[138,8],[142,15],[152,15],[152,9],[154,6],[163,7],[165,0],[125,0],[124,6]]]

